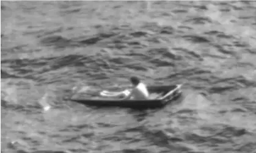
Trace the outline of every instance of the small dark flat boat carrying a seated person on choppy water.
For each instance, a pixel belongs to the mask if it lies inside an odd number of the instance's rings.
[[[181,96],[181,84],[179,85],[164,85],[164,86],[148,86],[150,94],[155,94],[154,98],[147,100],[122,100],[118,97],[120,93],[126,93],[124,91],[100,91],[96,94],[90,93],[90,98],[71,98],[70,101],[75,101],[84,105],[91,105],[97,107],[125,107],[131,109],[157,109],[164,107],[172,101],[175,101]],[[103,94],[105,96],[103,97]],[[108,94],[110,97],[106,97]],[[87,94],[89,95],[89,94]],[[114,97],[115,96],[115,97]]]

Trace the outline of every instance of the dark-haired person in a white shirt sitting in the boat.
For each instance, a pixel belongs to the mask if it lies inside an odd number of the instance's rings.
[[[131,89],[130,93],[123,98],[126,99],[136,99],[136,100],[143,100],[148,99],[149,93],[147,90],[147,86],[141,82],[138,77],[131,77],[130,78],[131,84],[133,88]]]

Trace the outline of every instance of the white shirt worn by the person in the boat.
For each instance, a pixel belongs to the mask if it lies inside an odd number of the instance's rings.
[[[147,99],[149,96],[147,86],[143,83],[139,83],[137,87],[135,87],[131,91],[131,96],[133,99],[136,99],[136,100]]]

